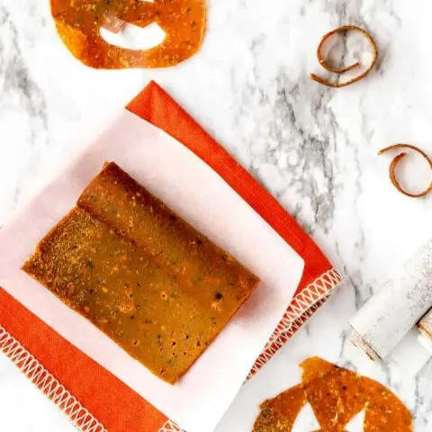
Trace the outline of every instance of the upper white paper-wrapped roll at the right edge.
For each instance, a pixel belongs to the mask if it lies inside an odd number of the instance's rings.
[[[381,360],[432,307],[432,239],[349,320],[350,340]]]

